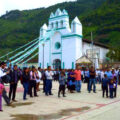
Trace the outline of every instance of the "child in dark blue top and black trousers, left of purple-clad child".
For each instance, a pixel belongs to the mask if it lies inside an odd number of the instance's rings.
[[[108,81],[107,75],[105,74],[104,78],[102,79],[102,91],[103,91],[103,97],[106,92],[107,98],[108,98],[108,83],[109,83],[109,81]]]

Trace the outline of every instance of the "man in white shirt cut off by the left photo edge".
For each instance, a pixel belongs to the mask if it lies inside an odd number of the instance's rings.
[[[4,69],[6,67],[6,63],[5,62],[1,62],[0,63],[0,83],[4,84],[4,81],[3,81],[3,77],[5,77],[7,74],[9,74],[9,72],[4,72]],[[10,99],[8,98],[7,94],[6,94],[6,90],[4,89],[3,92],[2,92],[2,96],[6,102],[7,105],[10,105]]]

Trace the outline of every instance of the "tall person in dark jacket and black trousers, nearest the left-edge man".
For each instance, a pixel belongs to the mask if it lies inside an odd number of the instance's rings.
[[[12,101],[17,102],[15,100],[15,97],[16,97],[17,84],[20,78],[20,73],[18,71],[17,65],[14,65],[13,71],[11,70],[10,72],[10,76],[11,76],[11,81],[10,81],[9,99],[11,100],[11,96],[12,96]]]

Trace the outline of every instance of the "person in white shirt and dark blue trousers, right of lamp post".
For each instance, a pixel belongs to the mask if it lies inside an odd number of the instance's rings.
[[[52,90],[52,80],[53,80],[53,71],[51,70],[51,66],[48,66],[48,70],[45,72],[46,75],[46,85],[45,85],[45,95],[53,95]]]

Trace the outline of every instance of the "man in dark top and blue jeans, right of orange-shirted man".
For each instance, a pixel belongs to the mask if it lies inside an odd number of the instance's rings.
[[[96,93],[96,72],[94,67],[92,66],[90,71],[90,83],[89,83],[89,93],[91,92],[92,84],[93,84],[93,92]]]

